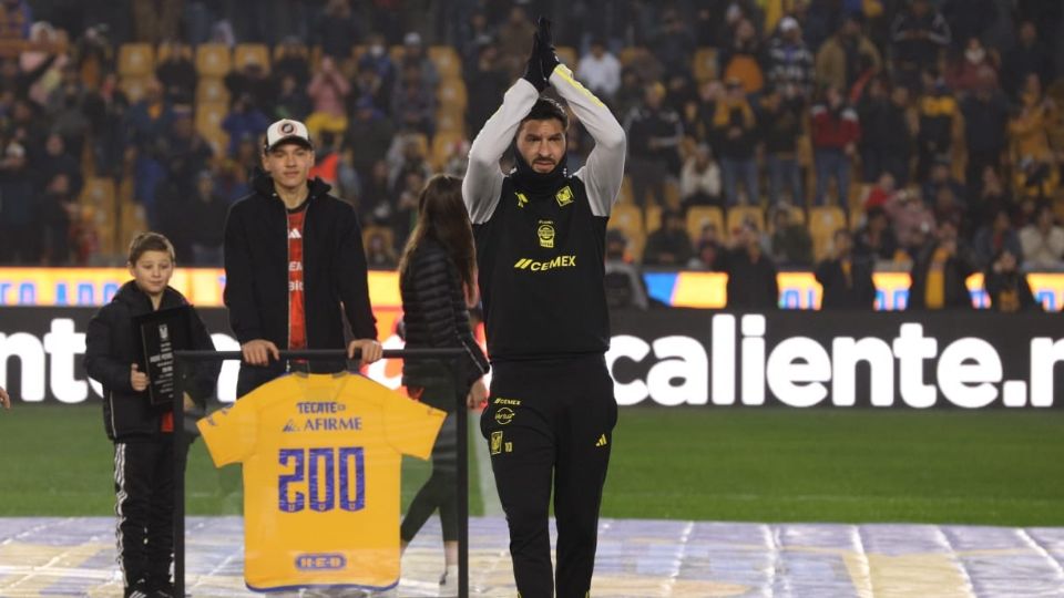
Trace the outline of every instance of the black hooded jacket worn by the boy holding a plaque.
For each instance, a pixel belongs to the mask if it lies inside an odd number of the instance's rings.
[[[166,287],[158,309],[181,306],[188,306],[188,301]],[[152,440],[162,433],[162,417],[167,409],[152,406],[147,392],[134,391],[130,380],[132,364],[143,361],[137,355],[133,318],[151,312],[151,298],[131,280],[89,321],[84,365],[89,377],[103,384],[103,423],[112,441]],[[200,315],[190,309],[190,349],[213,351],[214,343]],[[184,389],[193,400],[202,404],[212,394],[221,365],[219,362],[185,365]]]

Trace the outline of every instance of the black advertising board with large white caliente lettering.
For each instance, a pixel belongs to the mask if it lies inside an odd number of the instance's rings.
[[[225,310],[201,308],[219,351],[238,349]],[[95,308],[0,310],[0,384],[16,401],[95,401],[81,365]],[[378,311],[386,349],[398,313]],[[1064,400],[1064,327],[1053,313],[614,312],[607,361],[621,405],[1045,409]],[[398,360],[367,369],[398,388]],[[218,400],[232,402],[226,362]],[[1058,390],[1060,389],[1060,390]]]

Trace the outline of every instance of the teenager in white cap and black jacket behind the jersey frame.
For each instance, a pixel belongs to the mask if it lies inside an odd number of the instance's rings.
[[[237,396],[293,368],[334,372],[342,363],[284,362],[280,350],[344,349],[380,359],[369,303],[362,231],[351,206],[309,178],[314,144],[305,124],[284,118],[266,130],[263,171],[225,223],[225,306],[244,363]]]

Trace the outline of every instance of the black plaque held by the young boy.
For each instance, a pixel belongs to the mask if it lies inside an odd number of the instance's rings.
[[[188,306],[162,309],[133,318],[141,371],[147,373],[147,394],[153,405],[170,406],[174,400],[174,351],[191,348]]]

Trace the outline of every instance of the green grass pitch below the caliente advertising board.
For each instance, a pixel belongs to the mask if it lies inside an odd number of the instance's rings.
[[[630,408],[613,444],[607,517],[1064,526],[1061,411]],[[0,446],[0,516],[112,512],[98,404],[16,404]],[[405,471],[409,501],[428,465]],[[188,513],[239,513],[239,470],[215,470],[197,441]]]

